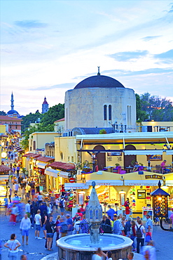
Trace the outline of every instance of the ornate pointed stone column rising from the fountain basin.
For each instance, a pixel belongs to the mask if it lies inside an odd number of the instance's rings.
[[[90,226],[90,244],[99,244],[99,227],[102,221],[102,206],[99,204],[95,181],[92,181],[92,191],[88,206],[85,209],[86,219]]]

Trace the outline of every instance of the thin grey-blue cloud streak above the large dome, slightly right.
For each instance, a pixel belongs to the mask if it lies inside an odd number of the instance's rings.
[[[132,59],[141,58],[142,56],[146,56],[148,51],[124,51],[120,53],[114,53],[109,55],[109,57],[114,58],[118,61],[128,61]]]

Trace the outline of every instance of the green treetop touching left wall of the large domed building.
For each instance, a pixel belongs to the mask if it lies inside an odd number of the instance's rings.
[[[48,124],[53,124],[56,120],[59,120],[64,117],[64,104],[54,105],[48,110],[41,119],[43,126]]]

